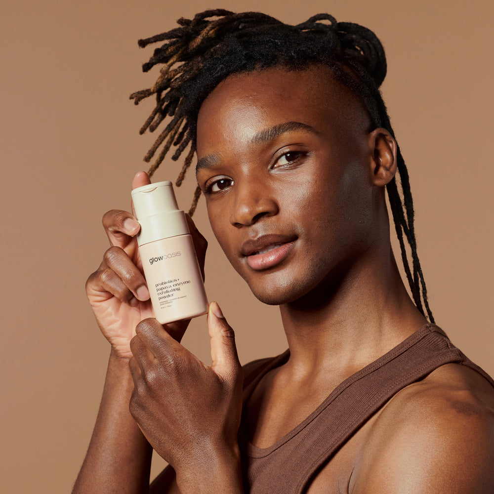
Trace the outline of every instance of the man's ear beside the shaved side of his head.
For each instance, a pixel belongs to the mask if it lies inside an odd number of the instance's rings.
[[[385,128],[376,128],[369,134],[372,185],[384,187],[391,182],[396,173],[397,148],[394,137]]]

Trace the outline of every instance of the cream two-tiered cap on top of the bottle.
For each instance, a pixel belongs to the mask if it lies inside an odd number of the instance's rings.
[[[141,225],[137,234],[138,245],[190,234],[185,213],[178,209],[170,181],[133,189],[132,203],[137,221]]]

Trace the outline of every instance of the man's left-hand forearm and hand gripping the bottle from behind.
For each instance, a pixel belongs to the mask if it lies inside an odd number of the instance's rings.
[[[149,183],[140,172],[132,188]],[[111,210],[103,216],[103,226],[110,248],[89,276],[86,294],[112,351],[94,432],[73,492],[147,493],[152,450],[128,409],[133,392],[130,341],[136,325],[153,315],[135,239],[139,224],[131,213]],[[203,266],[206,240],[191,222],[189,226]],[[187,324],[173,323],[166,331],[180,341]]]

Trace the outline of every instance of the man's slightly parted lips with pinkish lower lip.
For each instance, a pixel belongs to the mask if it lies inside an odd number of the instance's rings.
[[[247,264],[254,270],[272,268],[284,261],[297,237],[295,235],[263,235],[248,240],[241,249]]]

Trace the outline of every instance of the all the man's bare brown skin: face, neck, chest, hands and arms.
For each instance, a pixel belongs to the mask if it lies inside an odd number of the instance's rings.
[[[288,362],[261,379],[244,412],[244,432],[265,448],[425,322],[389,243],[384,186],[396,172],[396,143],[371,127],[327,68],[314,66],[221,82],[201,107],[197,152],[214,234],[254,295],[280,305],[288,338]],[[133,186],[144,183],[138,174]],[[241,493],[233,330],[212,303],[212,365],[184,349],[186,323],[162,327],[149,317],[137,231],[124,227],[132,215],[105,217],[113,247],[87,293],[112,354],[74,492],[147,492],[151,445],[173,469],[150,492]],[[204,262],[205,243],[193,236]],[[308,492],[491,493],[493,410],[483,377],[443,366],[396,394]]]

